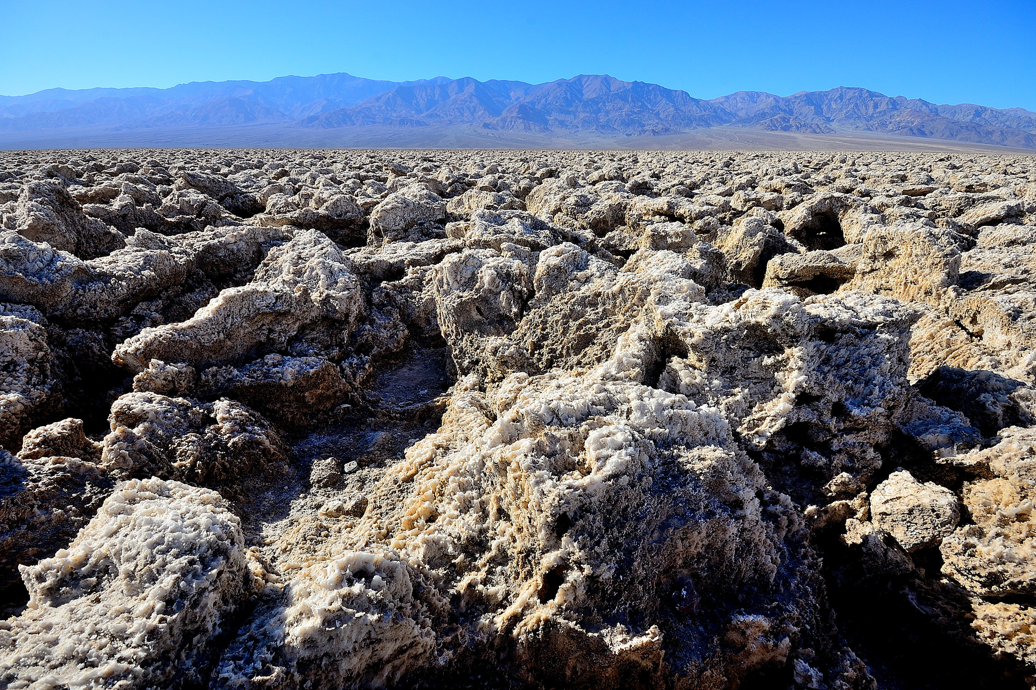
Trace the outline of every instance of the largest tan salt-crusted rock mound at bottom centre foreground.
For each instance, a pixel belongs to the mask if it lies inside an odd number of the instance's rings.
[[[466,611],[466,653],[506,644],[540,677],[573,681],[578,667],[583,681],[589,672],[613,685],[624,665],[658,672],[664,650],[695,643],[695,616],[681,603],[690,588],[712,601],[741,598],[738,612],[718,622],[727,641],[709,662],[714,670],[688,666],[682,672],[695,679],[719,669],[740,674],[786,659],[782,622],[812,620],[797,603],[811,596],[806,580],[776,568],[780,531],[801,529],[790,504],[757,484],[761,474],[733,450],[729,427],[716,412],[627,379],[627,361],[643,351],[636,337],[620,344],[614,361],[582,374],[514,374],[489,398],[473,391],[455,395],[439,432],[411,448],[371,492],[358,531],[341,533],[318,553],[305,542],[285,542],[289,558],[309,553],[316,563],[293,580],[295,594],[283,612],[257,621],[242,647],[259,655],[270,650],[270,665],[283,668],[285,679],[318,673],[327,684],[391,682],[428,663],[422,659],[431,649],[462,653],[452,641],[456,633],[443,629],[435,612],[435,602],[453,591]],[[491,410],[498,411],[495,421]],[[409,486],[402,503],[393,488],[401,482]],[[651,515],[649,524],[631,520],[634,513]],[[620,524],[626,527],[616,530]],[[366,552],[356,550],[361,543]],[[401,562],[409,566],[395,565]],[[337,574],[345,565],[364,580],[356,578],[348,594],[350,580],[339,584]],[[419,589],[418,573],[440,584]],[[746,610],[764,603],[745,593],[769,591],[775,579],[790,598],[780,595],[776,606],[767,598],[766,612]],[[391,626],[367,613],[366,589],[375,582],[386,588],[384,605],[400,613]],[[419,609],[418,601],[428,608]],[[635,607],[649,623],[667,621],[674,632],[662,636],[659,628],[644,626],[637,633],[643,624],[635,627],[625,618],[602,630],[594,622],[616,603],[620,611]],[[309,620],[299,618],[303,611],[336,632],[296,639],[292,627]],[[280,617],[287,626],[278,630],[288,632],[271,637],[263,621]],[[339,632],[341,617],[355,623]],[[270,640],[266,647],[263,637]],[[344,640],[361,643],[364,653],[342,655]],[[562,650],[587,663],[554,663]],[[254,679],[254,666],[240,654],[230,651],[222,674]],[[341,661],[316,663],[334,658]]]

